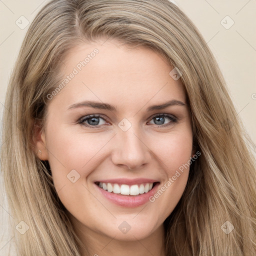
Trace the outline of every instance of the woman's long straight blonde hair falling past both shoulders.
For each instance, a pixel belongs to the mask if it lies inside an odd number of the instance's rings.
[[[166,255],[256,255],[256,166],[224,79],[189,18],[168,0],[52,0],[31,23],[9,81],[2,172],[18,255],[80,255],[82,246],[54,189],[47,161],[32,146],[47,94],[68,49],[98,38],[156,50],[182,72],[193,143],[185,191],[164,221]],[[228,222],[226,222],[228,221]],[[224,228],[233,226],[228,234]]]

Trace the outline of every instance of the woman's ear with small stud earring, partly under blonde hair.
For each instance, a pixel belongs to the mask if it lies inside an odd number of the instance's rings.
[[[32,143],[33,143],[34,152],[39,157],[39,159],[48,160],[48,150],[46,146],[45,132],[36,123],[33,126]]]

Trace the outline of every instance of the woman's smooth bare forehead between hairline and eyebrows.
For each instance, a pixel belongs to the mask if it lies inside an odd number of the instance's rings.
[[[110,39],[84,43],[70,49],[64,63],[64,86],[57,97],[70,104],[86,99],[136,106],[149,100],[185,101],[181,79],[169,74],[173,67],[146,47],[126,47]]]

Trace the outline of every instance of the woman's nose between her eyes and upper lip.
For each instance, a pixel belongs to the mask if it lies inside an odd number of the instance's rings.
[[[112,151],[112,162],[120,167],[137,169],[148,163],[151,159],[150,149],[144,137],[129,129],[117,131]]]

